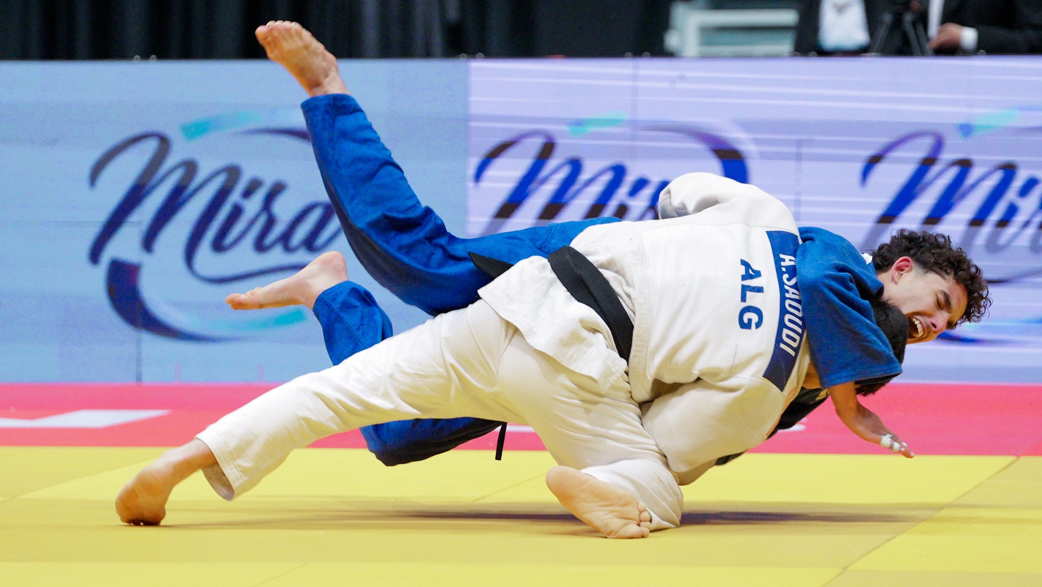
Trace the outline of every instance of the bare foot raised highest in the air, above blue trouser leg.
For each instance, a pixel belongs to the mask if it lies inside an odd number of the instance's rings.
[[[269,21],[256,29],[268,58],[284,67],[312,96],[347,94],[337,57],[295,22]]]

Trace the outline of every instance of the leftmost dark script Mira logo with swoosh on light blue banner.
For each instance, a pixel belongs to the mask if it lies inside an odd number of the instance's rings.
[[[242,163],[220,161],[228,149],[219,143],[228,141],[254,151],[311,150],[299,109],[247,111],[188,122],[175,133],[127,137],[92,166],[93,190],[105,179],[106,190],[123,181],[88,256],[91,264],[105,267],[108,298],[130,326],[160,337],[207,342],[304,320],[299,308],[263,316],[247,313],[237,319],[207,317],[168,303],[164,291],[145,285],[149,271],[172,271],[170,263],[154,261],[160,256],[157,253],[167,252],[160,249],[180,248],[182,277],[223,286],[297,271],[304,263],[294,253],[314,256],[341,234],[336,213],[324,198],[301,201],[290,181],[271,176],[271,170],[248,171]],[[193,151],[201,154],[185,155]],[[121,238],[123,246],[116,247]]]

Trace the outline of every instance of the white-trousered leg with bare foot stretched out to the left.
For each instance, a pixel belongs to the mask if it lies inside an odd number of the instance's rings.
[[[248,491],[293,450],[379,422],[474,414],[516,419],[491,393],[512,326],[487,303],[444,314],[317,373],[296,377],[164,455],[117,500],[120,518],[158,523],[174,485],[204,469],[222,497]]]

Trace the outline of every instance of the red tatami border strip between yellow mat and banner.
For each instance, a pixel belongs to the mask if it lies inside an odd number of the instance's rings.
[[[76,410],[169,410],[163,416],[100,429],[0,426],[0,445],[174,446],[275,385],[0,384],[0,418],[4,419],[30,420]],[[865,403],[921,455],[1042,455],[1042,386],[892,384],[865,398]],[[365,442],[355,431],[315,446],[363,447]],[[463,448],[494,446],[493,434]],[[515,430],[506,436],[506,448],[544,447],[534,433]],[[883,449],[854,437],[826,403],[796,430],[775,435],[754,451],[872,454]]]

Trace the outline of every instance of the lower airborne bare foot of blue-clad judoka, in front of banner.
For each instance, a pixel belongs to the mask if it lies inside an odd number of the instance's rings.
[[[259,310],[283,305],[315,307],[319,294],[347,280],[347,262],[344,255],[330,250],[315,258],[293,275],[253,288],[244,294],[231,294],[224,301],[232,310]]]

